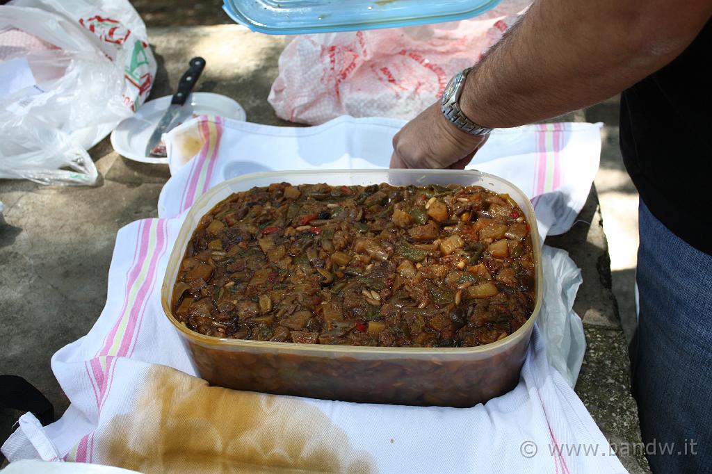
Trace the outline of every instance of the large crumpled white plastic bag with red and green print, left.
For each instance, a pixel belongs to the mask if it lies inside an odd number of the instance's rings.
[[[150,92],[156,62],[127,0],[14,0],[0,8],[0,177],[94,184],[87,149]],[[0,81],[3,78],[0,77]]]

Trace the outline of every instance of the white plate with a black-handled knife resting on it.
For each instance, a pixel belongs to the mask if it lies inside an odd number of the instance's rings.
[[[111,146],[122,157],[142,163],[167,163],[167,158],[147,157],[146,144],[158,121],[171,104],[172,95],[150,100],[139,107],[133,117],[122,121],[111,132]],[[178,115],[178,122],[189,120],[196,115],[220,115],[234,120],[245,120],[247,115],[242,106],[220,94],[192,93]]]

